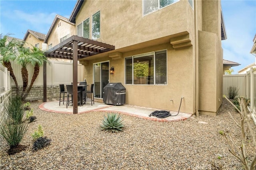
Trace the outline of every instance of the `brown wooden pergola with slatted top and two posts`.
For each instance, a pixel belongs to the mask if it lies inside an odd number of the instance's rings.
[[[72,35],[46,51],[46,57],[73,60],[73,114],[78,113],[77,63],[78,59],[114,50],[115,46]],[[46,63],[44,63],[44,102],[46,102]]]

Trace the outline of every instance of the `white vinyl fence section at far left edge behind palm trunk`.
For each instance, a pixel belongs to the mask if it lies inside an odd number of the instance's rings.
[[[0,94],[10,90],[10,71],[0,64]]]

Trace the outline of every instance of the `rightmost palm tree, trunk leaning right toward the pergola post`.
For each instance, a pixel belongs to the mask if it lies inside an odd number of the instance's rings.
[[[22,96],[23,100],[28,96],[28,93],[30,92],[30,90],[39,74],[40,66],[42,66],[44,64],[44,62],[49,63],[44,52],[36,47],[33,47],[31,55],[33,56],[33,59],[30,60],[30,64],[32,64],[32,66],[34,66],[34,74],[32,76],[30,86],[28,87],[28,89],[24,93],[24,95]]]

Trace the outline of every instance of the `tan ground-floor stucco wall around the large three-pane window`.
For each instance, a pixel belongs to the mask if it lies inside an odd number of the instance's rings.
[[[125,57],[167,49],[167,85],[130,85],[124,83]],[[181,96],[184,96],[180,111],[194,113],[194,72],[193,48],[174,50],[170,43],[146,47],[123,53],[122,59],[109,57],[94,59],[85,66],[85,78],[93,83],[93,63],[110,61],[115,73],[110,82],[121,82],[126,88],[126,104],[178,111]],[[170,101],[173,100],[173,101]]]

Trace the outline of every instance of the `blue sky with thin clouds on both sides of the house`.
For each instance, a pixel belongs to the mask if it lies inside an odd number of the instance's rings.
[[[76,0],[0,0],[0,33],[23,39],[28,29],[48,33],[56,14],[69,18]],[[250,54],[256,34],[256,0],[222,0],[227,38],[223,59],[240,63],[237,74],[255,62]]]

